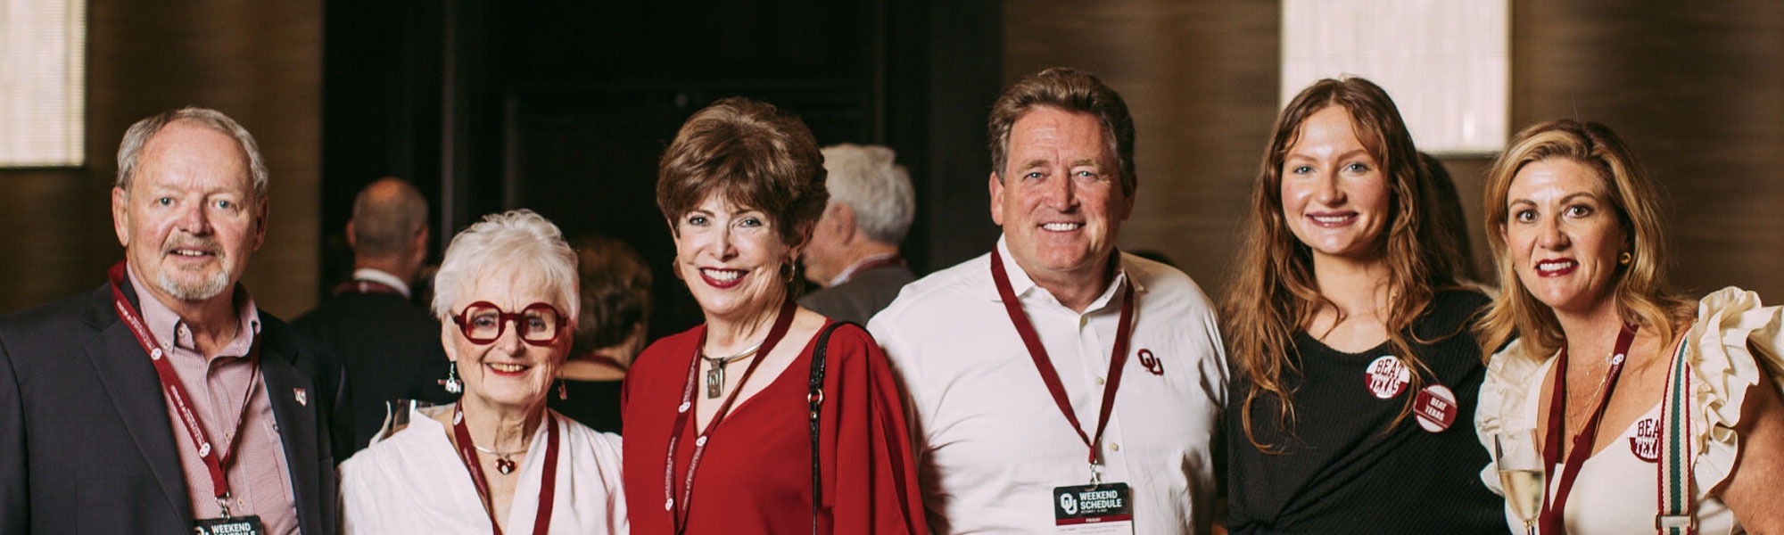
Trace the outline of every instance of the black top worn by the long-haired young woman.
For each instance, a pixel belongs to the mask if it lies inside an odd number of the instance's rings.
[[[1415,389],[1390,399],[1370,394],[1367,367],[1390,353],[1386,342],[1343,353],[1297,333],[1299,353],[1290,358],[1302,373],[1284,373],[1293,392],[1293,433],[1279,424],[1274,398],[1252,405],[1252,430],[1260,442],[1277,444],[1281,453],[1274,455],[1245,439],[1240,410],[1251,382],[1235,376],[1226,410],[1229,530],[1506,533],[1504,501],[1481,483],[1488,453],[1474,433],[1486,367],[1465,323],[1486,303],[1472,291],[1440,292],[1413,326],[1413,351],[1461,405],[1441,433],[1425,432],[1411,416],[1393,424],[1406,399],[1418,394]]]

